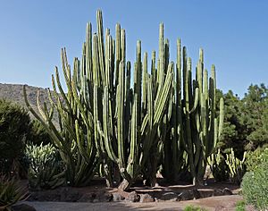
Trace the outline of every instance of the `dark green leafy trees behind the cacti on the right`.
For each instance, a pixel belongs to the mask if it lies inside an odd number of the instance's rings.
[[[231,90],[223,94],[217,90],[217,100],[224,98],[222,139],[217,147],[243,157],[245,150],[255,150],[268,143],[268,89],[264,84],[250,85],[242,99]]]

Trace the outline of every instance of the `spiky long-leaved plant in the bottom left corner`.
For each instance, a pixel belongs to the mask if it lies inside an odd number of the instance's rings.
[[[24,198],[27,198],[28,191],[21,188],[18,181],[0,176],[0,210],[8,210],[8,207]]]

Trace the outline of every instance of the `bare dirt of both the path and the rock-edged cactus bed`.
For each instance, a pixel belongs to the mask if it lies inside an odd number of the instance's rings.
[[[26,185],[26,183],[24,183]],[[180,192],[183,190],[191,190],[194,187],[189,184],[177,184],[170,186],[159,185],[155,188],[146,188],[141,186],[136,186],[131,188],[130,191],[135,190],[138,194],[148,193],[150,195],[162,195],[164,192]],[[130,202],[126,200],[122,201],[114,201],[114,202],[59,202],[59,201],[24,201],[21,203],[28,204],[29,206],[35,207],[37,211],[121,211],[121,210],[183,210],[184,207],[188,205],[204,207],[206,210],[235,210],[236,203],[239,200],[242,200],[242,196],[239,195],[239,186],[232,185],[230,183],[215,183],[210,182],[208,186],[198,187],[200,192],[212,191],[212,190],[222,190],[227,188],[231,190],[233,195],[227,196],[217,196],[217,197],[209,197],[209,198],[199,198],[195,200],[187,200],[187,201],[171,201],[171,200],[156,200],[155,202],[149,203],[140,203],[140,202]],[[105,184],[103,182],[96,182],[92,186],[84,187],[84,188],[71,188],[71,191],[79,191],[83,194],[90,193],[100,193],[105,194],[105,192],[110,193],[121,193],[121,195],[128,194],[128,192],[120,192],[117,189],[107,189],[105,188]],[[42,190],[45,195],[53,195],[54,190]],[[252,207],[247,207],[248,211],[254,210]]]

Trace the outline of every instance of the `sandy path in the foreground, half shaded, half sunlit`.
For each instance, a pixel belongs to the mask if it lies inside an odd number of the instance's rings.
[[[153,202],[153,203],[130,203],[130,202],[103,202],[103,203],[70,203],[70,202],[24,202],[37,211],[122,211],[122,210],[183,210],[188,205],[205,207],[206,210],[235,210],[235,204],[241,200],[238,195],[202,198],[181,202]]]

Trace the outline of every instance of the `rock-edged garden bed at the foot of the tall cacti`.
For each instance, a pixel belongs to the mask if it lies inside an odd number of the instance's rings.
[[[194,187],[187,183],[160,184],[154,188],[134,186],[127,191],[105,187],[105,181],[93,181],[83,188],[61,187],[54,190],[29,190],[29,201],[57,202],[161,202],[183,201],[198,198],[238,194],[239,186],[228,182],[209,182],[207,186]]]

